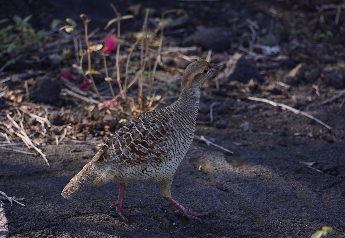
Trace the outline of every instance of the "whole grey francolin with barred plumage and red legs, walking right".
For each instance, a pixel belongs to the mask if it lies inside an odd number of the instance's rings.
[[[191,219],[201,221],[208,212],[187,210],[171,198],[170,187],[177,167],[186,155],[192,140],[199,110],[200,85],[217,65],[205,60],[191,63],[182,79],[178,100],[170,106],[143,113],[120,128],[97,151],[91,162],[71,179],[61,195],[68,198],[89,184],[120,182],[115,204],[119,215],[143,214],[127,211],[123,206],[128,182],[152,180],[160,185],[160,195]]]

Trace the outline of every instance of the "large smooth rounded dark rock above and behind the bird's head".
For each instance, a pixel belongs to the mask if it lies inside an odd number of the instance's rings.
[[[231,47],[227,34],[218,29],[206,29],[186,37],[182,46],[200,46],[204,50],[224,51]]]

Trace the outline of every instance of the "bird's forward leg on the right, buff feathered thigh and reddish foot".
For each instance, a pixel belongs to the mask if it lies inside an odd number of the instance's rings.
[[[195,212],[193,209],[187,210],[184,206],[179,204],[174,198],[171,197],[171,183],[174,177],[166,179],[164,181],[161,181],[159,183],[160,185],[160,195],[164,197],[167,201],[169,201],[174,207],[176,207],[178,210],[175,212],[181,213],[182,215],[190,218],[195,219],[201,222],[201,219],[198,217],[206,216],[208,215],[208,212]]]

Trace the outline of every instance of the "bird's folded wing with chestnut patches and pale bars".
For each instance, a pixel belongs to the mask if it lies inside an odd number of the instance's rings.
[[[158,162],[167,153],[173,132],[169,119],[158,111],[144,113],[111,136],[92,161],[99,166]]]

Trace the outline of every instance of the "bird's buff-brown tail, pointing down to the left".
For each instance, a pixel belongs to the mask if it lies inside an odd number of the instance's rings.
[[[82,170],[74,176],[71,181],[62,190],[61,195],[64,198],[69,198],[75,195],[80,189],[90,184],[103,185],[105,182],[102,181],[100,173],[97,171],[95,166],[90,163],[82,168]]]

